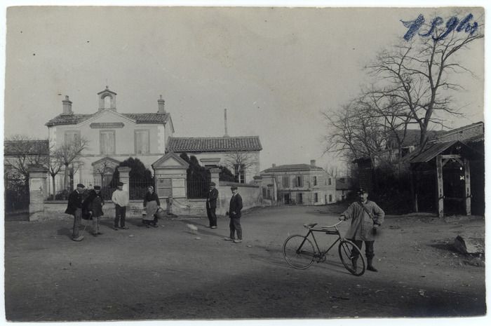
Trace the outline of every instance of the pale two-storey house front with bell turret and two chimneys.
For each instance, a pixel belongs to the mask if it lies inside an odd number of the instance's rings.
[[[121,113],[116,107],[116,93],[107,86],[97,96],[98,108],[93,114],[75,113],[72,101],[65,97],[61,114],[46,123],[49,146],[86,140],[86,149],[73,167],[74,179],[81,182],[100,184],[101,178],[110,177],[129,157],[137,157],[150,169],[166,152],[166,143],[174,133],[165,101],[160,97],[154,112]]]

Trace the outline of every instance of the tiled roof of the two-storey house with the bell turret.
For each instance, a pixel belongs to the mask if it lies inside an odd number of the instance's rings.
[[[60,114],[48,121],[46,125],[48,127],[53,125],[76,125],[98,113],[99,112],[96,112],[95,114]],[[135,123],[166,123],[170,116],[169,113],[122,113],[121,115],[130,118],[135,121]]]

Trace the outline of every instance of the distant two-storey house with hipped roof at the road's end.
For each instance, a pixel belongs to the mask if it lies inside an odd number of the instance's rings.
[[[283,205],[325,205],[336,202],[336,179],[323,168],[310,164],[273,164],[260,173],[266,197]],[[268,196],[269,194],[269,196]],[[264,195],[264,194],[263,194]]]

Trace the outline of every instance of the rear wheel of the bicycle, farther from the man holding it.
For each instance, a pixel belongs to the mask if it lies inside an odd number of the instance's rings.
[[[289,236],[283,243],[283,257],[295,269],[307,269],[314,262],[314,245],[305,236]]]

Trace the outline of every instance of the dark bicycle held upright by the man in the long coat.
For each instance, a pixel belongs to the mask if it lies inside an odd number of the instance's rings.
[[[286,262],[295,269],[308,269],[311,264],[314,264],[314,260],[317,263],[325,262],[325,255],[339,242],[339,258],[341,258],[344,267],[355,276],[363,275],[365,273],[365,259],[360,249],[350,240],[344,239],[339,233],[337,225],[341,222],[343,221],[331,226],[321,226],[320,228],[314,228],[317,223],[304,224],[304,227],[309,229],[306,236],[294,234],[286,238],[285,243],[283,243],[283,257],[285,257]],[[314,232],[336,235],[337,239],[330,245],[328,250],[321,251]],[[315,248],[310,238],[314,239]]]

